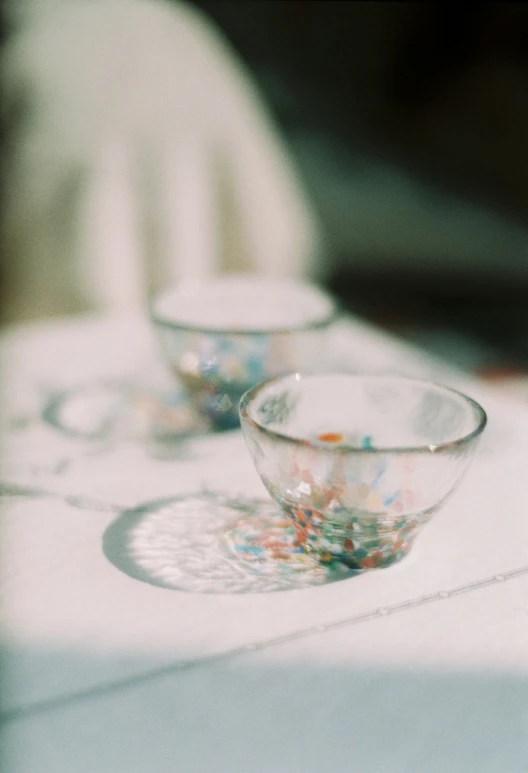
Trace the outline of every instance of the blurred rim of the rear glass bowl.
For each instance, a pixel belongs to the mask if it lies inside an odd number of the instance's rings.
[[[229,277],[236,276],[238,278],[248,278],[250,280],[256,280],[258,282],[259,280],[262,280],[263,277],[254,276],[252,274],[226,274],[224,276],[214,276],[209,279],[199,280],[196,283],[193,283],[191,290],[186,290],[186,288],[189,287],[189,283],[185,280],[172,285],[171,287],[167,287],[163,290],[159,290],[158,292],[154,293],[148,301],[148,314],[150,321],[155,325],[160,325],[165,328],[169,328],[170,330],[180,331],[180,332],[189,332],[189,333],[204,333],[209,335],[244,335],[244,336],[270,336],[270,335],[285,335],[287,333],[304,333],[309,332],[312,330],[322,330],[325,328],[330,327],[334,322],[337,322],[337,320],[341,317],[342,312],[339,303],[337,300],[333,297],[333,295],[329,292],[327,292],[324,288],[320,287],[317,283],[311,282],[304,279],[294,279],[291,277],[280,277],[277,279],[274,279],[273,277],[264,277],[264,279],[267,280],[273,280],[277,285],[284,283],[284,284],[290,284],[290,285],[296,285],[297,287],[301,287],[304,289],[312,289],[317,290],[319,293],[322,293],[328,303],[329,303],[329,311],[324,316],[321,316],[320,318],[313,319],[310,322],[305,322],[298,325],[288,325],[286,327],[261,327],[261,328],[227,328],[227,327],[215,327],[214,325],[192,325],[185,322],[176,322],[171,319],[167,319],[167,317],[163,314],[160,314],[156,311],[156,304],[159,301],[159,299],[165,295],[167,292],[174,292],[177,295],[185,295],[186,297],[189,297],[190,295],[198,295],[200,291],[207,287],[209,284],[212,284],[216,280],[222,280],[222,279],[228,279]]]

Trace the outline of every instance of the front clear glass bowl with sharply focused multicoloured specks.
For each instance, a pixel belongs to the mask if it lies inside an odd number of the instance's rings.
[[[486,426],[481,406],[447,387],[349,374],[270,380],[246,392],[240,417],[301,546],[357,570],[409,552]]]

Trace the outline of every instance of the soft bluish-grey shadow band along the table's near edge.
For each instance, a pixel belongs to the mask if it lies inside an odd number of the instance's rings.
[[[273,662],[265,653],[182,669],[22,646],[6,649],[3,666],[11,773],[528,767],[526,673]]]

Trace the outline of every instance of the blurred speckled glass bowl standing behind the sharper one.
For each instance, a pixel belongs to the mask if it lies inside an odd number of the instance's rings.
[[[321,365],[336,307],[306,282],[235,274],[164,291],[150,316],[194,408],[213,428],[230,429],[247,389]]]

